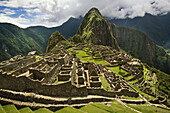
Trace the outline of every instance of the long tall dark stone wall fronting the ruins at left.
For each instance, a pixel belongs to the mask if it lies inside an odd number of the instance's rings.
[[[73,86],[71,81],[60,84],[42,84],[25,76],[0,76],[0,88],[21,92],[34,92],[54,97],[82,97],[87,96],[86,87]]]

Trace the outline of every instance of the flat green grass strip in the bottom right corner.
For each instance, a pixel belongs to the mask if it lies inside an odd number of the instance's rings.
[[[144,106],[144,105],[128,105],[131,108],[134,108],[142,113],[170,113],[169,110],[158,108],[155,106]]]

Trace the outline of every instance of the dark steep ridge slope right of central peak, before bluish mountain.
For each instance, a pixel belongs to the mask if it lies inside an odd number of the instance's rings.
[[[162,47],[154,44],[148,35],[132,28],[118,27],[114,24],[112,24],[112,30],[120,48],[150,66],[170,73],[169,55]]]

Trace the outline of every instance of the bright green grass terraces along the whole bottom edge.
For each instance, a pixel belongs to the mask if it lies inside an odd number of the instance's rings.
[[[129,98],[130,99],[130,98]],[[133,99],[133,98],[131,98]],[[54,113],[136,113],[131,110],[133,108],[142,113],[169,113],[169,110],[158,108],[155,106],[150,106],[149,104],[126,104],[130,108],[122,105],[117,100],[110,101],[111,103],[89,103],[81,108],[74,108],[71,106],[62,108],[55,111]],[[31,110],[29,107],[17,109],[15,105],[0,105],[0,113],[53,113],[47,108],[39,108],[37,110]]]

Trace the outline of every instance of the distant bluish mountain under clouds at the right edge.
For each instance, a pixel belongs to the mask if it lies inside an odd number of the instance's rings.
[[[145,14],[143,17],[133,19],[109,19],[109,22],[118,26],[125,26],[145,32],[154,43],[170,49],[170,13],[167,15],[154,16]]]

